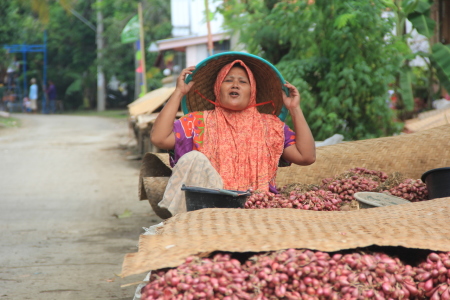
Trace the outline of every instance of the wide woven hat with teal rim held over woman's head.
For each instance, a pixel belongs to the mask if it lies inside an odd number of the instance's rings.
[[[191,81],[195,83],[181,101],[183,113],[213,110],[214,104],[205,100],[203,97],[211,101],[216,100],[214,83],[216,82],[217,74],[222,67],[237,59],[242,60],[253,72],[256,81],[256,103],[273,101],[273,105],[272,103],[268,103],[257,106],[258,111],[260,113],[275,114],[284,121],[288,111],[283,105],[281,90],[286,95],[289,94],[288,89],[284,86],[286,81],[277,68],[270,62],[256,55],[244,52],[215,54],[197,64],[195,70],[185,80],[186,83]]]

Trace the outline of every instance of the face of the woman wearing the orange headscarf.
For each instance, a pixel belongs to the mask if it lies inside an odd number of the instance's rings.
[[[220,103],[223,108],[243,110],[250,103],[250,80],[247,72],[231,68],[220,86]]]

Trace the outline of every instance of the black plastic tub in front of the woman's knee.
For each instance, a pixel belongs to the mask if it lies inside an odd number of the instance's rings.
[[[243,208],[250,192],[183,186],[187,211],[202,208]]]

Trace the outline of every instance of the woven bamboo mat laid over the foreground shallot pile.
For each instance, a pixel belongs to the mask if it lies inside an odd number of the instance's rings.
[[[121,275],[176,267],[188,256],[217,250],[331,252],[378,245],[450,251],[449,220],[450,197],[347,212],[202,209],[170,218],[157,235],[141,235]]]

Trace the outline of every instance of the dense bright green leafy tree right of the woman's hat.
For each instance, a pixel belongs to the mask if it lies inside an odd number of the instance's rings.
[[[401,60],[398,45],[386,39],[393,20],[381,17],[380,2],[278,1],[271,10],[256,0],[237,6],[227,3],[229,7],[222,9],[230,28],[238,29],[237,21],[244,24],[241,41],[252,53],[277,63],[283,76],[299,89],[316,140],[335,133],[347,140],[374,138],[401,129],[393,121],[387,93]],[[277,42],[272,35],[267,39],[256,34],[265,30],[273,32]],[[262,45],[268,41],[271,49],[287,47],[278,51],[279,61],[264,51]]]

